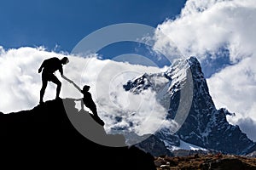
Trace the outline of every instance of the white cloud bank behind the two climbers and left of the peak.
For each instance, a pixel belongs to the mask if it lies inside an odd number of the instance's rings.
[[[4,113],[30,110],[39,102],[41,75],[38,68],[44,59],[67,56],[70,62],[63,66],[64,75],[80,88],[90,85],[90,93],[96,102],[98,114],[106,122],[105,129],[127,128],[137,134],[154,133],[160,127],[171,126],[163,121],[166,110],[158,104],[153,91],[143,94],[125,92],[122,85],[144,72],[160,72],[157,67],[131,65],[113,60],[101,60],[96,54],[88,58],[47,52],[44,48],[0,47],[0,111]],[[79,90],[61,79],[61,98],[82,98]],[[44,100],[55,99],[55,84],[48,82]],[[79,105],[79,104],[78,104]],[[89,111],[89,110],[87,110]]]

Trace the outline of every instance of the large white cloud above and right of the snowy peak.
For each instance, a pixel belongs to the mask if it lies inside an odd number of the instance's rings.
[[[244,126],[256,122],[255,16],[254,0],[188,0],[175,20],[158,26],[154,46],[172,53],[167,36],[184,56],[208,63],[202,67],[212,70],[207,82],[215,105],[236,112],[229,121],[256,141]],[[214,62],[218,69],[211,67]]]

